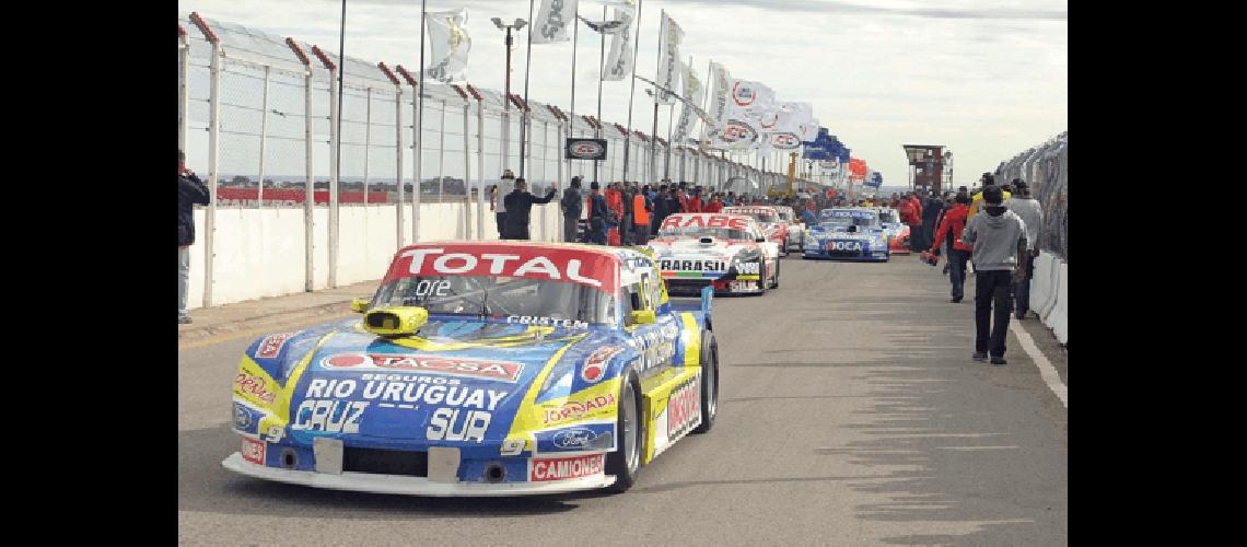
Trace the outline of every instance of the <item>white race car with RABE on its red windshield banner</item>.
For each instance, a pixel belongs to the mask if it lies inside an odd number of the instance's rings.
[[[743,214],[677,213],[648,243],[672,293],[706,287],[726,294],[766,294],[779,287],[779,245]]]

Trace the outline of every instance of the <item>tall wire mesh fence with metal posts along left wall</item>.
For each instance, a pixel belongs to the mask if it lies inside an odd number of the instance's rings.
[[[690,181],[721,188],[729,177],[748,177],[764,191],[777,184],[781,166],[756,167],[712,157],[696,148],[673,147],[624,127],[531,101],[527,116],[513,95],[471,85],[426,82],[420,111],[412,71],[402,65],[338,59],[330,50],[292,37],[214,21],[191,14],[178,17],[178,148],[192,169],[207,172],[213,199],[206,207],[203,244],[207,275],[213,272],[213,233],[218,207],[302,207],[307,232],[307,287],[313,285],[315,209],[328,208],[329,285],[337,287],[337,217],[339,207],[394,207],[398,244],[420,240],[419,222],[404,234],[404,214],[416,218],[421,202],[483,203],[481,188],[504,169],[519,173],[521,123],[525,178],[534,193],[561,188],[572,176],[595,179],[594,162],[562,159],[569,131],[607,140],[607,159],[596,179]],[[343,72],[340,110],[338,72]],[[335,150],[340,145],[340,159]],[[419,153],[416,153],[416,148]],[[653,161],[651,162],[651,150]],[[340,169],[335,169],[340,161]],[[753,159],[756,161],[756,158]],[[653,166],[651,168],[651,166]],[[340,173],[340,178],[339,178]],[[419,179],[416,184],[415,181]],[[402,184],[399,183],[402,181]],[[465,233],[488,238],[484,208],[465,219]],[[322,213],[323,214],[323,213]],[[475,221],[475,222],[474,222]],[[203,305],[212,305],[208,279]]]

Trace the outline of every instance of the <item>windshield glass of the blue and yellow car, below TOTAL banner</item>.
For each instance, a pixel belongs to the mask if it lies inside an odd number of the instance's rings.
[[[418,305],[430,314],[615,323],[615,298],[577,283],[540,278],[404,277],[380,287],[372,308]]]

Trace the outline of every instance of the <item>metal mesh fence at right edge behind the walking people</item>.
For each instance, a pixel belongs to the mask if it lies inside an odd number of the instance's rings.
[[[1039,234],[1040,248],[1069,262],[1069,141],[1065,131],[1052,140],[1030,148],[996,168],[998,182],[1021,178],[1030,184],[1031,194],[1044,208],[1044,228]]]

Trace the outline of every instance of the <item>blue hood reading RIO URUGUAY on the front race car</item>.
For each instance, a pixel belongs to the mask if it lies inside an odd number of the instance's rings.
[[[330,436],[365,447],[496,450],[526,400],[607,384],[610,368],[592,383],[571,373],[612,340],[614,331],[605,326],[496,319],[430,319],[420,336],[387,339],[353,319],[319,336],[311,356],[293,368],[283,417],[299,445]],[[551,373],[544,375],[547,365]],[[559,381],[540,385],[542,379]]]

